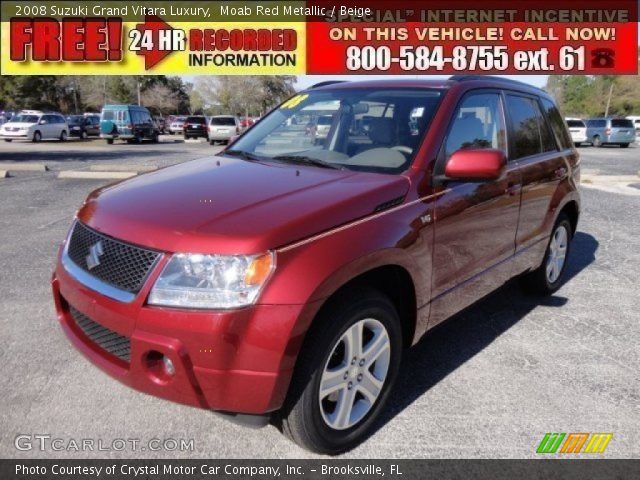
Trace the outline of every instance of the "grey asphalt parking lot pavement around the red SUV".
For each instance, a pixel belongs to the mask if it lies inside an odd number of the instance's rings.
[[[52,155],[62,168],[116,157],[171,163],[211,151],[207,144],[91,148],[29,144],[25,152],[47,163]],[[606,173],[635,162],[640,169],[637,149],[581,152],[585,168]],[[0,159],[10,159],[5,145]],[[71,347],[55,320],[49,279],[73,213],[103,184],[52,172],[0,180],[0,456],[309,456],[273,427],[250,430],[130,390]],[[583,205],[567,283],[546,299],[509,284],[431,331],[408,352],[375,434],[346,457],[535,457],[546,432],[612,432],[604,456],[637,458],[640,197],[584,189]],[[83,438],[107,446],[193,439],[194,451],[22,452],[14,447],[19,434],[48,434],[65,446]]]

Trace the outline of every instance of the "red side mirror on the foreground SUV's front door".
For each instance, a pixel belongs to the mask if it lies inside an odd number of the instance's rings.
[[[495,180],[502,175],[506,163],[502,150],[458,150],[449,158],[444,174],[456,180]]]

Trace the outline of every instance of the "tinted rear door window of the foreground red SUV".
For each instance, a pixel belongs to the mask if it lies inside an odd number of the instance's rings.
[[[538,107],[529,98],[507,96],[507,109],[513,129],[512,159],[537,155],[542,151],[538,126]]]

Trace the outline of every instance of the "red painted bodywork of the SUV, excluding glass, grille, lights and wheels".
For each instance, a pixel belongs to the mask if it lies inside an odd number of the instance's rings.
[[[52,280],[55,305],[73,344],[98,367],[141,391],[215,410],[271,412],[286,397],[317,312],[352,279],[390,265],[407,272],[416,318],[409,341],[415,342],[514,275],[540,265],[559,212],[570,202],[579,211],[574,149],[510,162],[497,180],[441,185],[434,181],[434,169],[460,100],[471,89],[508,86],[491,80],[358,86],[443,90],[415,160],[403,174],[215,157],[93,192],[78,211],[79,221],[165,253],[131,303],[82,285],[59,261]],[[394,206],[377,210],[396,199]],[[276,252],[275,273],[251,307],[210,311],[147,304],[173,252],[269,250]],[[130,364],[94,345],[74,324],[69,305],[130,338]],[[173,361],[171,379],[156,375],[150,351]]]

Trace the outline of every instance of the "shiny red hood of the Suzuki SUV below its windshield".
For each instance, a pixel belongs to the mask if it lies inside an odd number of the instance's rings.
[[[218,156],[96,190],[78,218],[167,252],[258,253],[371,215],[408,189],[400,175]]]

